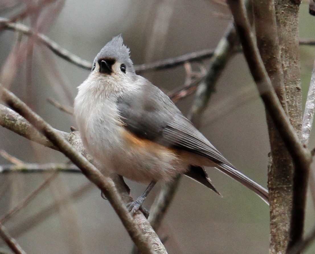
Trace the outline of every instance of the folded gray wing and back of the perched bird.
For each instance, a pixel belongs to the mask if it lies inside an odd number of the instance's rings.
[[[232,166],[193,126],[160,89],[146,79],[145,84],[124,92],[117,106],[125,128],[166,147],[180,148],[205,156],[215,163]]]

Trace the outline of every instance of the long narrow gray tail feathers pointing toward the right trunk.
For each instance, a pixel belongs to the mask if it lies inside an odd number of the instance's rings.
[[[219,164],[219,167],[217,167],[217,169],[255,192],[262,200],[266,202],[267,205],[269,205],[268,191],[260,186],[258,183],[254,182],[253,180],[229,165],[222,163]]]

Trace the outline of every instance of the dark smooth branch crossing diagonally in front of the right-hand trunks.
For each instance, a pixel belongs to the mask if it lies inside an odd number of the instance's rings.
[[[307,179],[312,157],[309,150],[303,147],[272,87],[257,49],[255,36],[251,31],[243,2],[241,0],[228,0],[228,3],[241,39],[245,58],[266,107],[266,111],[270,114],[294,161],[295,173],[291,220],[291,232],[295,231],[294,242],[302,236],[303,230],[301,229],[303,228],[305,218]]]

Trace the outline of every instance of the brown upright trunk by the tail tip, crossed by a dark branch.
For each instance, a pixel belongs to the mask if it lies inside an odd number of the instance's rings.
[[[257,46],[272,86],[288,115],[281,52],[277,35],[274,1],[253,1]],[[289,152],[267,113],[271,155],[268,169],[270,202],[269,253],[285,253],[289,243],[292,209],[293,162]]]

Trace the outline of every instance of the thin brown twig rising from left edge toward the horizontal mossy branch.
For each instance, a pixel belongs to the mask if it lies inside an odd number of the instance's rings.
[[[44,188],[48,186],[48,183],[51,182],[57,174],[52,174],[49,176],[41,185],[39,185],[34,191],[32,191],[25,199],[21,200],[19,204],[13,207],[10,211],[8,211],[5,215],[0,218],[0,224],[5,223],[9,218],[11,218],[14,214],[20,211],[23,207],[28,205],[32,199],[36,197],[38,193],[40,193]]]

